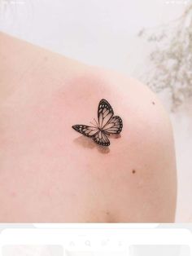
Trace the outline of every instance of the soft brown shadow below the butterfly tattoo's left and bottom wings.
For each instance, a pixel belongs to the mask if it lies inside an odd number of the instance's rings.
[[[74,142],[84,148],[97,148],[98,152],[103,154],[107,154],[110,152],[109,147],[100,146],[97,143],[94,143],[92,139],[85,136],[80,136],[74,139]]]

